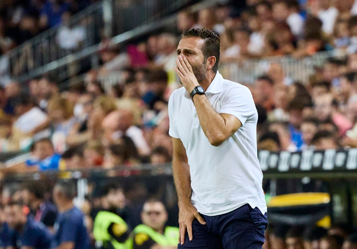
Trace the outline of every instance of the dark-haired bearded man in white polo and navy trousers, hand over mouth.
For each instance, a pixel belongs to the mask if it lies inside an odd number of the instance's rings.
[[[262,248],[267,208],[251,92],[218,73],[220,41],[212,31],[183,31],[177,55],[184,87],[169,100],[169,134],[178,248]]]

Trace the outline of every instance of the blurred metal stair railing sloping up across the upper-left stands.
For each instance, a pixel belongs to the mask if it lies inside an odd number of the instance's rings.
[[[58,81],[76,75],[82,67],[91,67],[90,57],[98,50],[103,36],[114,37],[136,27],[158,21],[196,0],[102,0],[26,41],[0,57],[0,84],[10,80],[24,82],[34,76],[53,74]],[[76,32],[80,41],[68,48],[61,31]],[[68,34],[68,32],[67,32]],[[67,58],[62,64],[61,59]],[[80,59],[86,59],[78,62]],[[63,60],[62,60],[63,61]]]

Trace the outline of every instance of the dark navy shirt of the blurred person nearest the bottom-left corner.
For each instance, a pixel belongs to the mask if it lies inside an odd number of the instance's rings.
[[[22,232],[14,231],[10,246],[17,248],[27,246],[35,249],[49,249],[51,247],[51,240],[52,234],[49,229],[44,224],[29,218]]]

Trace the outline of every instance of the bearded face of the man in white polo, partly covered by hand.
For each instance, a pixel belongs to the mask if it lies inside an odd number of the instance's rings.
[[[177,55],[188,60],[198,83],[207,75],[207,63],[202,53],[204,43],[205,41],[199,37],[183,37],[177,46]]]

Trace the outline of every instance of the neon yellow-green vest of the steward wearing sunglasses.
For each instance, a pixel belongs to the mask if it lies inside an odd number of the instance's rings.
[[[156,244],[175,246],[178,244],[179,233],[180,231],[178,230],[178,227],[165,227],[164,234],[161,234],[151,227],[141,224],[134,228],[130,234],[129,239],[126,242],[126,247],[127,249],[132,249],[134,247],[134,240],[136,240],[136,244],[140,244],[144,243],[148,237],[154,240]]]

